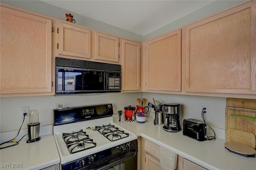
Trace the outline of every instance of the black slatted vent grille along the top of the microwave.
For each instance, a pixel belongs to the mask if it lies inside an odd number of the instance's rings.
[[[121,71],[121,65],[109,64],[109,63],[99,63],[94,61],[84,61],[78,59],[67,59],[56,57],[57,67],[72,67],[72,68],[82,68],[82,69],[98,69],[105,71]]]

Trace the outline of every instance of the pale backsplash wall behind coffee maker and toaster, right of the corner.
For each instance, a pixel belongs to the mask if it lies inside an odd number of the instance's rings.
[[[143,97],[147,99],[147,103],[153,103],[153,99],[160,103],[180,103],[181,104],[181,120],[198,119],[202,121],[202,105],[208,106],[209,115],[205,116],[205,121],[212,127],[218,138],[225,138],[225,97],[206,97],[194,95],[170,95],[162,93],[143,93]],[[150,116],[154,116],[154,110],[150,110]],[[152,123],[153,124],[153,123]],[[212,130],[208,128],[208,136],[214,135]]]

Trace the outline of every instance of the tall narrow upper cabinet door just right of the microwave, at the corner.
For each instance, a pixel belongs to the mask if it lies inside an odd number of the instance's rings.
[[[140,43],[122,40],[122,91],[140,90]]]

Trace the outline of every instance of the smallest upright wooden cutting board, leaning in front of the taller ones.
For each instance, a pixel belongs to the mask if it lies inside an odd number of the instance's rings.
[[[228,128],[227,130],[227,139],[228,142],[238,142],[255,148],[256,139],[255,135],[250,132],[245,132],[242,130],[236,130],[232,128]]]

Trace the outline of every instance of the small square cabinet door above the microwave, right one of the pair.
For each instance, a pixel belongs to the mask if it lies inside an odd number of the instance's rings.
[[[95,59],[119,62],[119,38],[95,32]]]

